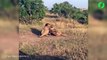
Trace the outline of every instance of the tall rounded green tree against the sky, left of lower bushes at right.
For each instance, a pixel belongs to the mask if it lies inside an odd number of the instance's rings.
[[[72,5],[67,1],[60,4],[55,3],[51,12],[67,18],[70,16],[70,13],[72,13]]]

